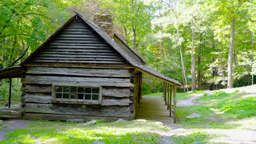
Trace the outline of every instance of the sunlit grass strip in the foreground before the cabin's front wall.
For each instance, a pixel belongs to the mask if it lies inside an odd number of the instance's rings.
[[[34,121],[30,128],[8,133],[8,139],[0,143],[156,143],[158,133],[168,128],[154,122],[97,121],[94,125],[77,123]]]

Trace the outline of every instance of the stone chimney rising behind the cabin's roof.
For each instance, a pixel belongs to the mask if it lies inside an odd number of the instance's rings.
[[[110,38],[113,39],[113,16],[108,14],[96,14],[93,16],[93,22],[102,28]]]

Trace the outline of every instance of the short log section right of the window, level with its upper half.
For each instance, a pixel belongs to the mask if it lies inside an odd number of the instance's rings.
[[[109,97],[127,97],[129,98],[133,93],[130,91],[130,87],[103,87],[102,96]]]

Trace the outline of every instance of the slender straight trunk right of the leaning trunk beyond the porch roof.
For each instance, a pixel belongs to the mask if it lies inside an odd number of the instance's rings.
[[[192,29],[192,49],[191,49],[191,91],[195,91],[195,28],[194,22],[191,20],[191,29]]]

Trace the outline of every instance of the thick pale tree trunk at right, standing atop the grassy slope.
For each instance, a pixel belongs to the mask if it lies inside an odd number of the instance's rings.
[[[229,59],[228,59],[228,88],[233,87],[233,55],[235,45],[235,17],[231,19],[230,27],[230,44],[229,44]]]

